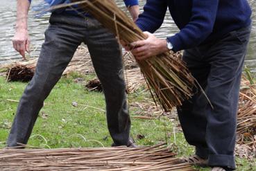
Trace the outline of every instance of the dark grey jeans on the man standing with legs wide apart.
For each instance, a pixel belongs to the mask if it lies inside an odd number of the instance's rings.
[[[105,94],[108,129],[116,145],[126,145],[130,116],[126,103],[122,57],[114,35],[92,17],[51,15],[35,75],[19,102],[8,137],[8,146],[26,144],[38,113],[60,79],[76,48],[84,42]]]

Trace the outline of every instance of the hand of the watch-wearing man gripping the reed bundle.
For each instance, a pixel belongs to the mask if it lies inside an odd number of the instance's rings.
[[[148,57],[169,51],[166,39],[158,39],[155,35],[144,32],[148,37],[145,40],[133,42],[129,48],[137,60],[145,60]]]

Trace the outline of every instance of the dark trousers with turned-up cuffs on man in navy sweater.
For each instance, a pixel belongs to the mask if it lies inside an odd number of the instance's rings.
[[[178,109],[187,142],[210,166],[235,168],[237,108],[241,71],[250,27],[234,30],[211,44],[185,51],[183,59],[212,102],[198,89]]]

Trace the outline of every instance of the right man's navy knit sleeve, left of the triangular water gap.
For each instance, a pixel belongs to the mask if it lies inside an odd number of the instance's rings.
[[[162,25],[166,12],[166,0],[147,0],[144,12],[139,15],[136,24],[143,31],[154,33]]]

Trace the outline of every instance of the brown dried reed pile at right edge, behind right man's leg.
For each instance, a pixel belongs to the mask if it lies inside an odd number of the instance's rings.
[[[243,77],[237,114],[237,143],[256,150],[256,84]]]

